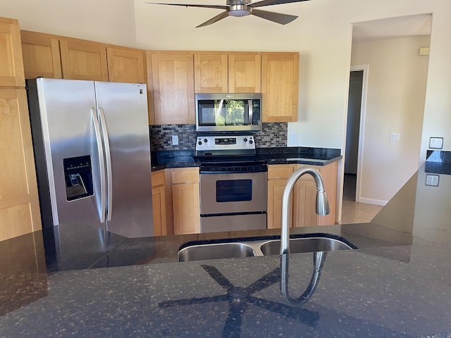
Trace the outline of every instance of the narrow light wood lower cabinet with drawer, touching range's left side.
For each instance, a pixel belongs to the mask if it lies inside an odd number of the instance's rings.
[[[174,234],[200,232],[199,168],[171,170]]]

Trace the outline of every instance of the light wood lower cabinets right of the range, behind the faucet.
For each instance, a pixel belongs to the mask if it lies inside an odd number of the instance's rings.
[[[314,168],[321,173],[328,196],[330,213],[316,215],[316,184],[311,175],[299,177],[292,190],[290,217],[292,227],[335,224],[338,162],[328,165],[268,165],[268,229],[280,227],[282,218],[282,195],[288,177],[297,168]]]

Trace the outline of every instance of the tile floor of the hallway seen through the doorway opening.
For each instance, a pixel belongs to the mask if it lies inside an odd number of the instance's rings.
[[[345,174],[341,223],[368,223],[383,206],[355,201],[356,175]]]

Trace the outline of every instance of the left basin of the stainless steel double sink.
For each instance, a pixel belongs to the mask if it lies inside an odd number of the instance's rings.
[[[178,251],[178,261],[202,261],[218,258],[241,258],[255,256],[254,249],[245,243],[199,244]]]

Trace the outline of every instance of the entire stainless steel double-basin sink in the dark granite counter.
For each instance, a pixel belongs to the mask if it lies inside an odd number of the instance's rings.
[[[327,237],[329,236],[329,237]],[[342,237],[327,234],[302,235],[290,239],[290,252],[315,252],[356,249],[356,246]],[[236,239],[235,239],[236,241]],[[178,261],[201,261],[218,258],[241,258],[252,256],[271,256],[280,253],[280,239],[246,239],[240,242],[226,242],[214,244],[185,244],[178,251]]]

